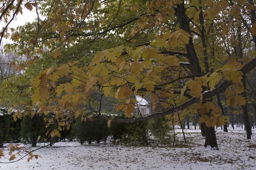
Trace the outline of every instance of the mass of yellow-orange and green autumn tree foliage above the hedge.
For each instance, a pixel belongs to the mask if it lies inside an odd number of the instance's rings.
[[[0,94],[7,96],[1,102],[23,106],[25,115],[35,114],[33,108],[39,114],[51,111],[61,130],[79,115],[83,120],[100,115],[111,125],[194,109],[195,104],[199,121],[206,124],[206,146],[217,147],[208,139],[227,116],[216,95],[224,93],[225,105],[245,112],[244,82],[256,66],[253,0],[0,2],[0,20],[6,23],[0,43],[10,38],[6,52],[23,58],[10,63],[23,72],[1,81]],[[34,11],[35,21],[9,28],[24,10]],[[153,114],[132,119],[102,114],[102,96],[111,96],[118,99],[113,109],[130,118],[136,95],[151,97]],[[21,117],[18,109],[15,118]]]

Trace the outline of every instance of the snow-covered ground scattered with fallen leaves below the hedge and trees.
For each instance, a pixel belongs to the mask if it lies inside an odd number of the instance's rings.
[[[256,170],[256,129],[252,140],[246,140],[241,128],[228,130],[216,130],[220,150],[204,148],[200,130],[184,130],[189,143],[184,144],[181,130],[177,129],[176,147],[80,145],[66,141],[35,151],[42,158],[0,163],[0,170]]]

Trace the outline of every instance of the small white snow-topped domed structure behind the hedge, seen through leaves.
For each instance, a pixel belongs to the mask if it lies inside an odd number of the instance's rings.
[[[140,95],[136,96],[136,100],[138,102],[136,103],[135,109],[132,114],[140,117],[150,115],[151,106],[148,104],[148,102],[144,98],[142,98]]]

